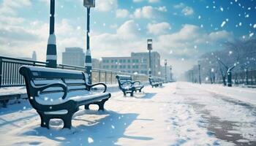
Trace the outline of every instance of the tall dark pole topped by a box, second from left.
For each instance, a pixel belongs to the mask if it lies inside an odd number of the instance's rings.
[[[95,0],[83,0],[83,6],[87,8],[87,31],[86,31],[86,76],[91,84],[91,50],[90,50],[90,9],[95,7]]]

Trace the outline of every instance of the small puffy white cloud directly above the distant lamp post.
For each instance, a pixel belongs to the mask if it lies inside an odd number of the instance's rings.
[[[171,28],[169,23],[155,23],[155,24],[148,24],[148,32],[151,34],[166,34],[168,30]]]

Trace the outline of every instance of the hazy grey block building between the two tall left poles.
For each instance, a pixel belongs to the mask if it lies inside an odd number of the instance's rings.
[[[62,64],[73,66],[84,66],[85,53],[80,47],[66,47],[65,52],[62,53]]]

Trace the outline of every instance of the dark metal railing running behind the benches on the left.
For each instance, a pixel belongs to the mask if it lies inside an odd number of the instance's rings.
[[[0,88],[11,86],[23,86],[25,82],[23,76],[18,72],[20,66],[46,66],[46,62],[32,61],[26,59],[10,58],[0,56]],[[71,66],[67,64],[59,64],[59,69],[70,69],[85,72],[86,69],[82,66]],[[116,83],[116,74],[131,75],[133,80],[140,80],[141,82],[148,82],[146,74],[132,74],[127,72],[115,72],[103,69],[92,69],[92,82],[105,82],[107,84]]]

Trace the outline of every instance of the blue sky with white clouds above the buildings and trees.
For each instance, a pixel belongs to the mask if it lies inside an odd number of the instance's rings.
[[[255,0],[96,0],[91,9],[93,58],[128,56],[153,50],[181,74],[203,53],[223,42],[255,37]],[[254,16],[254,17],[253,17]],[[0,54],[45,61],[48,0],[0,0]],[[56,0],[58,62],[65,47],[86,47],[86,9],[82,0]],[[12,51],[10,51],[12,50]]]

